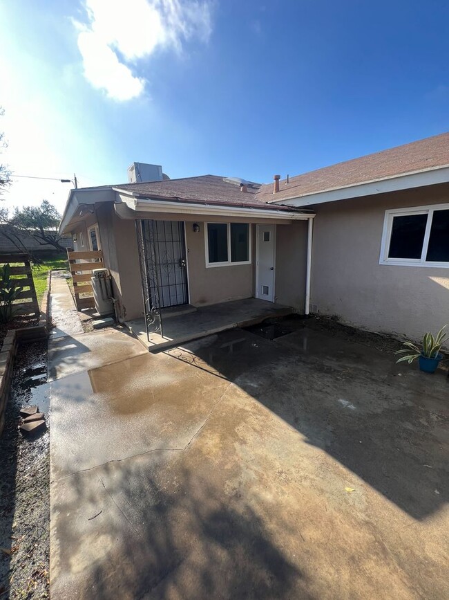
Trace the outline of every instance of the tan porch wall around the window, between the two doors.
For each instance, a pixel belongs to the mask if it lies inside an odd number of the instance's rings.
[[[194,222],[198,221],[186,221],[190,303],[193,306],[205,306],[254,296],[254,226],[251,226],[251,264],[207,268],[204,223],[200,223],[200,231],[194,233]]]

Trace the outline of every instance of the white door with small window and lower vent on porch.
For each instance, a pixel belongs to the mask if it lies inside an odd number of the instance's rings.
[[[256,298],[274,302],[276,225],[257,226]]]

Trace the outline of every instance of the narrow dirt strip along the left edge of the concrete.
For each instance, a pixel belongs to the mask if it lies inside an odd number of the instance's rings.
[[[24,438],[19,410],[37,404],[49,426],[47,343],[19,347],[0,437],[0,599],[48,598],[50,433]]]

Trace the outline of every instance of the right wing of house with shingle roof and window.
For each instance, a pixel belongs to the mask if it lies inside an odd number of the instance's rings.
[[[420,338],[449,323],[449,133],[280,181],[314,211],[311,311]]]

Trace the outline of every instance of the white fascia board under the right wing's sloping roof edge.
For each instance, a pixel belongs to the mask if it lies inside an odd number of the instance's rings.
[[[389,177],[388,179],[378,179],[376,181],[367,181],[366,183],[359,183],[357,185],[347,185],[344,188],[335,188],[334,190],[327,190],[325,192],[305,194],[304,196],[298,196],[296,198],[273,200],[270,204],[283,204],[284,206],[297,206],[300,208],[315,204],[324,204],[325,202],[360,198],[363,196],[372,196],[374,194],[385,194],[385,192],[397,192],[399,190],[410,190],[411,188],[422,188],[425,185],[448,182],[449,166],[438,167],[432,170]]]

